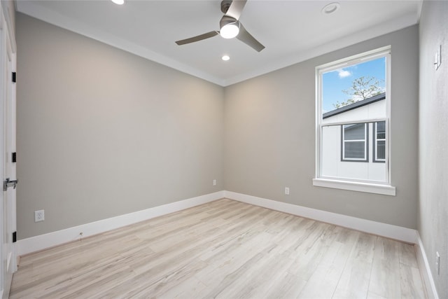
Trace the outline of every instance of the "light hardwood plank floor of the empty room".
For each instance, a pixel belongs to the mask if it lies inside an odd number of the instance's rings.
[[[426,298],[414,246],[233,200],[23,256],[10,298]]]

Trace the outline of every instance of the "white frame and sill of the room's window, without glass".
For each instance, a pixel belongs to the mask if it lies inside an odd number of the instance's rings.
[[[379,57],[386,57],[386,117],[380,119],[362,119],[348,122],[323,123],[322,118],[322,74],[328,71],[349,67],[353,64],[359,64],[374,60]],[[391,115],[391,46],[378,48],[375,50],[353,55],[351,57],[323,64],[316,67],[316,176],[313,179],[313,185],[326,188],[337,188],[343,190],[353,190],[367,193],[377,193],[383,195],[395,196],[395,187],[391,186],[391,138],[390,138],[390,115]],[[358,179],[346,179],[340,177],[328,177],[322,175],[321,161],[323,159],[322,134],[323,127],[330,125],[347,125],[353,123],[376,123],[385,121],[386,127],[386,181],[363,181]],[[367,125],[368,127],[368,125]],[[367,137],[366,137],[367,138]],[[376,136],[374,136],[376,139]],[[373,144],[376,146],[376,143]]]

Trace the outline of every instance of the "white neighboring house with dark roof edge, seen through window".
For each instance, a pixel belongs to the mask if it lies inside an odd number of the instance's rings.
[[[356,119],[381,119],[386,109],[381,93],[323,113],[323,125]],[[386,181],[386,121],[323,127],[323,176]]]

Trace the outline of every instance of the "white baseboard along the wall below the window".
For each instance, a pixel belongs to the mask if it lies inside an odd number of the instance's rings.
[[[301,207],[295,204],[288,204],[286,202],[277,202],[275,200],[267,200],[261,197],[251,195],[244,195],[230,191],[224,191],[224,197],[231,200],[238,200],[239,202],[246,202],[276,211],[283,211],[288,214],[311,218],[325,223],[331,223],[344,228],[351,228],[353,230],[360,230],[370,234],[379,235],[381,237],[388,237],[402,242],[417,244],[417,231],[411,228],[403,228],[398,225],[391,225],[387,223],[379,223],[363,218],[356,218],[342,214],[336,214],[329,211],[322,211],[318,209],[311,209],[308,207]]]

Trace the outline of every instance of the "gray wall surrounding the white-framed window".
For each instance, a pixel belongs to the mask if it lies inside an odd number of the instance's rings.
[[[388,45],[397,196],[314,187],[315,67]],[[418,53],[413,26],[226,88],[226,190],[416,228]]]

